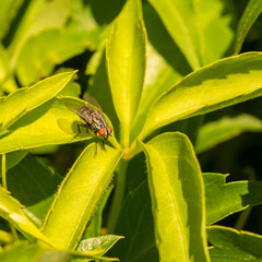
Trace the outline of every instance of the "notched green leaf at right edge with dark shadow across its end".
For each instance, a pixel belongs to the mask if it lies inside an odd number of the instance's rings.
[[[261,181],[226,183],[226,175],[204,174],[206,225],[262,203]],[[230,200],[230,201],[228,201]]]

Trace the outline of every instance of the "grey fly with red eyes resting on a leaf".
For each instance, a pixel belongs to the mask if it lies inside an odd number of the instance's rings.
[[[86,129],[86,133],[84,134],[84,136],[88,133],[90,130],[94,131],[96,135],[95,154],[97,154],[97,133],[103,138],[103,148],[105,148],[105,141],[108,140],[109,135],[111,136],[112,128],[108,126],[98,102],[92,96],[86,96],[85,100],[86,102],[84,107],[79,107],[68,102],[66,102],[64,104],[71,111],[78,114],[79,117],[85,121],[85,123],[78,122],[79,132],[74,138],[80,135],[80,127],[84,127]]]

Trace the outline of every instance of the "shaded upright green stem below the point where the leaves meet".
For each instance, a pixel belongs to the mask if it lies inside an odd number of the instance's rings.
[[[107,224],[108,233],[114,233],[118,216],[120,214],[122,200],[124,195],[124,189],[126,189],[127,168],[128,168],[128,162],[124,159],[121,159],[118,166],[116,189],[115,189],[111,210],[110,210],[108,224]]]

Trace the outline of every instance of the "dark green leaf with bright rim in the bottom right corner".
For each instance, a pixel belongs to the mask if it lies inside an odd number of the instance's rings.
[[[233,228],[212,226],[207,228],[212,262],[262,261],[262,236],[237,231]]]

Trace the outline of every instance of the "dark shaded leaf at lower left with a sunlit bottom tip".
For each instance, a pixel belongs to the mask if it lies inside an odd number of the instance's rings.
[[[27,155],[8,171],[7,180],[12,195],[26,206],[29,212],[26,214],[40,227],[61,177]]]

